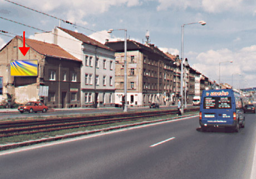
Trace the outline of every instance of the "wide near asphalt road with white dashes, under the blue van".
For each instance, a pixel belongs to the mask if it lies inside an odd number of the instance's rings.
[[[193,117],[0,152],[0,178],[250,178],[256,116],[245,121],[239,133],[201,132]]]

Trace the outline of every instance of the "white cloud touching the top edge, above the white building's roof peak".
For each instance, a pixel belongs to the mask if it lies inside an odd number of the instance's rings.
[[[88,14],[99,14],[107,12],[111,6],[134,7],[140,6],[142,4],[140,0],[17,0],[16,3],[29,4],[30,8],[35,8],[36,10],[45,13],[51,12],[53,16],[55,16],[55,14],[58,14],[58,18],[67,19],[67,21],[70,21],[72,23],[79,23],[82,25],[87,24],[84,18]]]

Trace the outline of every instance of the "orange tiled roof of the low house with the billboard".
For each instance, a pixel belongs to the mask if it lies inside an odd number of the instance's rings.
[[[23,38],[20,36],[16,36],[15,38],[19,38],[23,41]],[[72,56],[72,54],[68,53],[67,51],[65,51],[65,49],[61,48],[60,46],[57,46],[56,44],[46,43],[29,38],[26,38],[25,42],[29,47],[33,48],[35,51],[45,56],[67,58],[81,62],[80,59],[77,59],[76,57]]]

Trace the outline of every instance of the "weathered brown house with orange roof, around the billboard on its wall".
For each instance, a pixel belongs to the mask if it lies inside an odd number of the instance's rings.
[[[14,37],[0,50],[0,76],[3,77],[3,98],[22,104],[28,101],[44,101],[50,108],[80,107],[81,61],[54,44],[26,39],[30,47],[24,56],[18,47],[23,39]],[[35,59],[37,76],[11,76],[11,60]],[[46,95],[40,95],[42,86]]]

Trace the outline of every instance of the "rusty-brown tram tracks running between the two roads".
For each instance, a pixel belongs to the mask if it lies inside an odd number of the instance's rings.
[[[184,112],[198,110],[199,108],[190,108],[184,110]],[[78,116],[51,119],[46,118],[43,120],[33,119],[0,122],[0,137],[30,135],[41,132],[68,130],[72,128],[88,126],[100,126],[124,121],[136,121],[141,118],[174,115],[177,113],[177,110],[156,110],[146,112],[117,113],[111,115],[104,114],[97,116]]]

